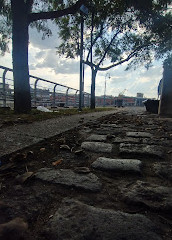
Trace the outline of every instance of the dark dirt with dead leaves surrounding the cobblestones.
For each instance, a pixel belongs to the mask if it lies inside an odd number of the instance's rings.
[[[172,122],[159,119],[157,115],[146,112],[138,115],[134,112],[124,111],[102,117],[23,151],[11,154],[2,159],[0,167],[0,224],[19,217],[27,222],[28,229],[21,236],[4,234],[3,239],[51,239],[46,231],[46,225],[65,197],[74,198],[95,207],[120,210],[131,214],[143,214],[157,224],[162,239],[172,239],[172,209],[160,211],[144,204],[129,204],[123,201],[120,191],[124,186],[129,187],[137,180],[171,187],[171,180],[156,176],[151,172],[152,163],[157,162],[156,157],[149,155],[128,156],[127,154],[122,156],[123,158],[130,157],[145,161],[141,175],[118,172],[113,174],[91,168],[91,163],[100,156],[121,157],[117,143],[114,144],[112,153],[108,154],[81,150],[82,142],[91,133],[96,132],[101,124],[117,124],[123,128],[127,127],[128,131],[133,130],[134,127],[135,131],[152,133],[165,150],[162,161],[171,163],[172,144],[166,145],[163,142],[168,140],[172,143]],[[119,132],[118,136],[124,137],[124,132]],[[108,133],[107,139],[107,142],[112,143],[113,135],[111,132]],[[88,167],[101,179],[102,191],[93,193],[35,179],[32,173],[36,173],[44,167],[72,169],[74,171],[78,167]],[[22,177],[24,173],[28,173],[26,178]],[[20,229],[17,231],[20,232]]]

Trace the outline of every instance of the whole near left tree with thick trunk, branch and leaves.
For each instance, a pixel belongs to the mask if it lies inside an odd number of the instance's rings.
[[[29,25],[43,31],[44,36],[51,30],[45,24],[55,19],[74,14],[86,0],[1,0],[0,2],[0,52],[8,50],[12,37],[14,76],[14,109],[18,113],[31,110],[31,96],[28,67]]]

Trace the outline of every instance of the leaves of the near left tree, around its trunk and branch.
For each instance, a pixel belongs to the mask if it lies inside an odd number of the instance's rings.
[[[28,14],[51,12],[64,9],[72,4],[73,1],[63,0],[25,0],[25,4],[28,8]],[[0,1],[0,54],[4,55],[8,51],[8,44],[12,37],[12,14],[10,0]],[[53,21],[53,20],[52,20]],[[47,20],[41,19],[30,23],[31,28],[36,28],[38,32],[42,32],[44,39],[52,35],[51,29],[48,27]]]

